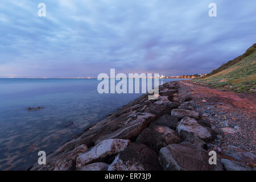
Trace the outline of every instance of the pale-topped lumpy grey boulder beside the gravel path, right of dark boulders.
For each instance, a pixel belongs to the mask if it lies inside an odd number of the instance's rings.
[[[205,142],[209,142],[214,137],[213,132],[209,127],[201,126],[196,119],[189,117],[181,119],[177,126],[177,131],[182,138],[188,138],[190,135],[193,135]]]

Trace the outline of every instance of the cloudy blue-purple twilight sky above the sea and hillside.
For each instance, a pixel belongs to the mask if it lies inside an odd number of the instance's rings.
[[[255,43],[255,9],[255,0],[1,0],[0,77],[209,73]]]

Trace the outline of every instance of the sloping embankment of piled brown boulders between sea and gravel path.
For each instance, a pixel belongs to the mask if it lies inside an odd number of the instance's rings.
[[[218,146],[225,132],[197,109],[186,86],[182,81],[161,85],[158,100],[144,94],[64,143],[47,156],[46,165],[30,170],[255,170],[255,146],[250,152]],[[217,152],[216,165],[208,162],[211,150]]]

